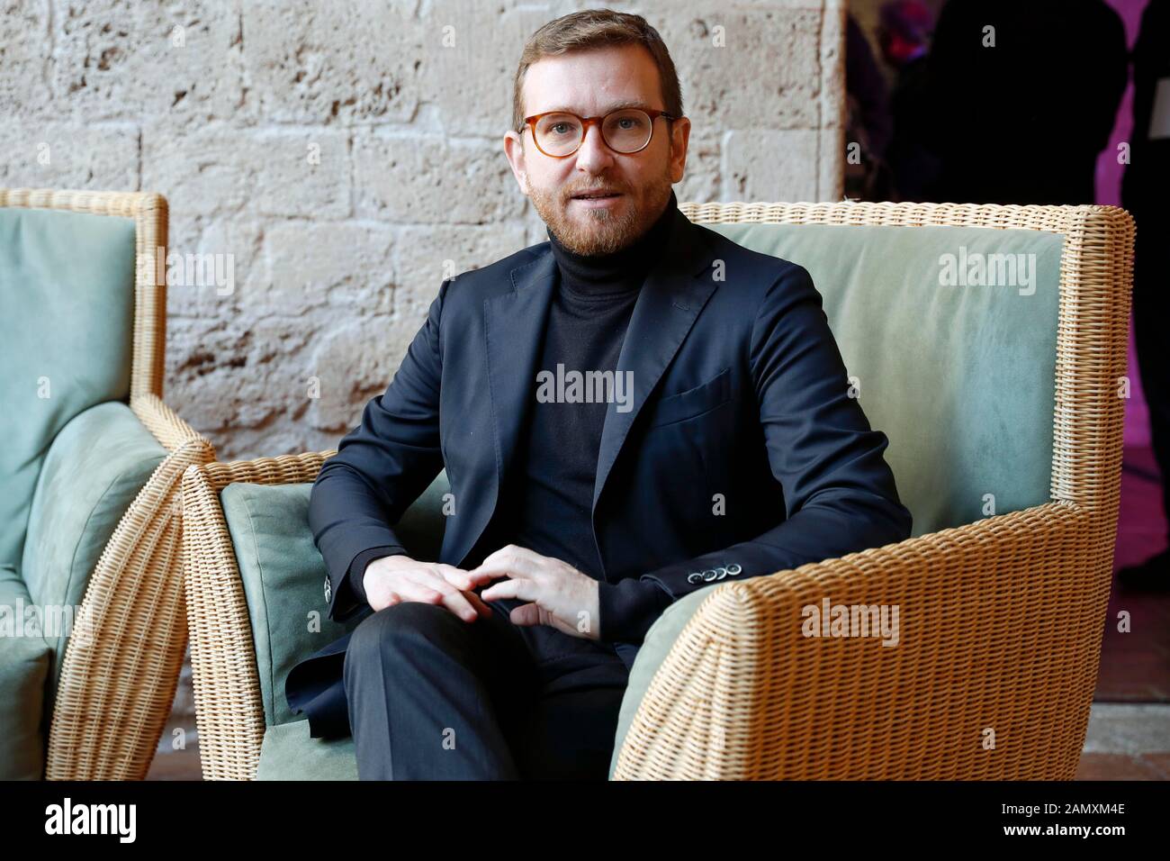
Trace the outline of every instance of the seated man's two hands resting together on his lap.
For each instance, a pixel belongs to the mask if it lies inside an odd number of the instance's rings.
[[[482,593],[480,586],[501,580]],[[383,556],[366,566],[363,586],[374,610],[402,601],[442,604],[464,622],[491,615],[484,601],[515,597],[514,624],[548,624],[570,636],[598,638],[598,582],[552,556],[508,545],[469,570],[410,556]]]

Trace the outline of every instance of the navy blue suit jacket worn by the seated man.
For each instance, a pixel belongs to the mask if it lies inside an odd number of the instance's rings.
[[[372,613],[340,588],[350,563],[401,547],[394,524],[445,466],[456,514],[440,561],[467,559],[521,435],[555,286],[549,242],[443,281],[385,394],[314,485],[309,518],[331,619]],[[677,600],[716,572],[742,580],[909,537],[888,439],[849,395],[803,267],[675,210],[621,347],[625,370],[633,406],[608,405],[593,487],[606,581],[652,579]],[[349,732],[347,641],[289,674],[289,705],[315,737]],[[615,644],[627,667],[638,645]]]

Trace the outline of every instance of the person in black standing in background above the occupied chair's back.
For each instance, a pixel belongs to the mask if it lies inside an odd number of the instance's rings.
[[[1092,204],[1126,90],[1126,29],[1104,0],[949,0],[918,131],[940,203]]]

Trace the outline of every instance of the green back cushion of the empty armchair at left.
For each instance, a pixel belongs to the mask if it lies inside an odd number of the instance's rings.
[[[0,563],[19,570],[49,444],[130,394],[133,220],[0,207]]]

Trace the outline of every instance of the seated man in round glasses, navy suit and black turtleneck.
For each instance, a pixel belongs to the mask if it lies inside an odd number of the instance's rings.
[[[910,532],[807,272],[679,212],[658,32],[545,25],[514,111],[549,241],[441,285],[312,490],[330,615],[367,615],[285,692],[352,732],[362,779],[605,779],[668,604]],[[393,526],[443,467],[441,561],[417,561]]]

